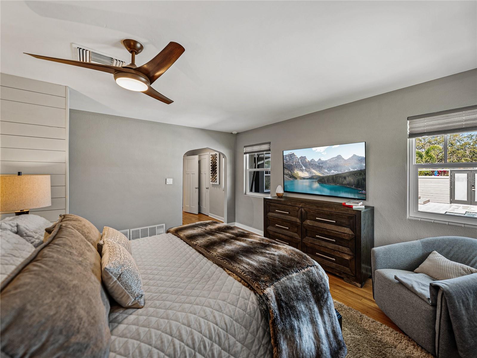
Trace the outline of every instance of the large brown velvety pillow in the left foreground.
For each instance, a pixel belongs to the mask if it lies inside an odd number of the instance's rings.
[[[108,356],[101,258],[73,228],[57,225],[0,291],[2,357]]]

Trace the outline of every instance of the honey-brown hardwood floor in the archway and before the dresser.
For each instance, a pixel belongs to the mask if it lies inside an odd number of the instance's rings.
[[[222,222],[220,220],[213,219],[210,216],[200,213],[196,215],[188,212],[183,212],[182,214],[183,225],[207,220]],[[330,280],[330,292],[335,300],[340,301],[343,304],[354,308],[357,311],[360,311],[364,315],[371,317],[386,326],[394,328],[396,331],[401,332],[399,327],[396,326],[374,302],[373,283],[371,279],[368,279],[366,281],[363,288],[358,288],[356,286],[353,286],[352,284],[347,284],[343,281],[341,277],[335,276],[334,274],[330,273],[327,274]]]

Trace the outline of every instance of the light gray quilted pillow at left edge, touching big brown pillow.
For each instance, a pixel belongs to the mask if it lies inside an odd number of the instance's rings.
[[[21,236],[0,229],[0,281],[30,256],[33,250],[33,245]]]

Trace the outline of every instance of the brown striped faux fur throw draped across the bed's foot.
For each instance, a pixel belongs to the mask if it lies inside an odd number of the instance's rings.
[[[327,281],[306,254],[216,221],[168,232],[255,291],[270,320],[273,357],[346,356]]]

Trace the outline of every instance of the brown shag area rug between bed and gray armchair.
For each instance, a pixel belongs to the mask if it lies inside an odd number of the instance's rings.
[[[346,358],[432,358],[432,354],[406,335],[363,315],[336,300],[334,307],[343,317]]]

